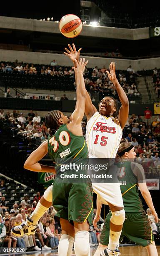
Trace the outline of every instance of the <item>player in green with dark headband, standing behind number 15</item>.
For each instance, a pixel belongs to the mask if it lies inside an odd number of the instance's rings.
[[[116,164],[118,168],[117,175],[121,184],[120,189],[125,209],[125,222],[123,223],[119,241],[122,241],[122,238],[126,236],[136,244],[144,246],[147,249],[149,256],[158,256],[148,215],[146,215],[143,210],[143,205],[138,193],[139,186],[145,202],[155,216],[155,221],[158,222],[158,215],[155,212],[150,192],[145,183],[143,166],[132,161],[135,158],[136,153],[131,143],[121,143],[118,148],[118,156],[120,158]],[[100,218],[101,207],[102,204],[97,200],[97,214],[93,221],[95,227],[97,227],[97,221]],[[110,218],[111,212],[109,212],[105,218],[100,237],[100,244],[94,256],[107,255],[106,248],[109,243]]]

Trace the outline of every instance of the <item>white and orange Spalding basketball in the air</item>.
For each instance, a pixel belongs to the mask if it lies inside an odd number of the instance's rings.
[[[61,18],[59,28],[63,36],[73,38],[82,31],[82,21],[74,14],[67,14]]]

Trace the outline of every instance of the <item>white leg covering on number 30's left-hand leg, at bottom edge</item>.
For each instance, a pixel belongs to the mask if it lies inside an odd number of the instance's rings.
[[[69,235],[62,235],[58,244],[58,255],[71,256],[74,238]]]

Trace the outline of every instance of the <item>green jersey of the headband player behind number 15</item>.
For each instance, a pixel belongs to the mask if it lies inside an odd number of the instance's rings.
[[[131,169],[131,162],[120,161],[116,165],[125,212],[144,212],[138,192],[138,179]]]

